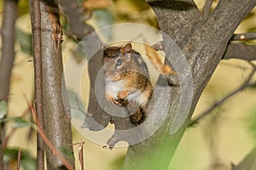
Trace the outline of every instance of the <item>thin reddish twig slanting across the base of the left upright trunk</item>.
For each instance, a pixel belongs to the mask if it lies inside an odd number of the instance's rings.
[[[67,167],[68,170],[73,170],[73,167],[65,160],[65,158],[61,155],[61,152],[59,150],[55,149],[55,146],[53,144],[51,144],[51,142],[49,141],[49,139],[47,138],[46,134],[44,133],[44,129],[41,126],[40,123],[38,123],[38,116],[36,114],[35,109],[33,108],[33,106],[30,104],[30,102],[28,101],[28,99],[26,98],[26,95],[24,95],[24,98],[26,99],[26,104],[29,106],[30,111],[32,112],[32,116],[34,118],[34,121],[36,122],[37,125],[37,129],[38,129],[38,133],[40,134],[40,136],[42,137],[42,139],[44,140],[44,143],[49,147],[49,149],[52,151],[52,153],[57,156],[61,162],[63,163],[63,165],[65,167]]]

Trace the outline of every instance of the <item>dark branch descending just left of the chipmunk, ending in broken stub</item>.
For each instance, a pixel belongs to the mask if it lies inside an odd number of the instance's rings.
[[[67,15],[69,20],[70,29],[72,33],[82,40],[84,37],[89,35],[94,28],[88,24],[85,24],[86,18],[84,17],[84,8],[80,7],[75,0],[59,0],[64,13]],[[94,42],[91,44],[84,44],[81,42],[80,45],[90,46],[91,49],[97,48],[102,41],[96,34],[94,34]],[[95,94],[95,82],[98,71],[102,68],[102,50],[97,52],[94,57],[89,60],[89,75],[90,75],[90,101],[88,106],[88,113],[85,114],[84,124],[82,127],[88,127],[90,130],[101,130],[106,127],[109,123],[110,116],[105,114],[102,108],[98,105]],[[103,87],[102,87],[103,88]],[[102,126],[98,126],[97,123]]]

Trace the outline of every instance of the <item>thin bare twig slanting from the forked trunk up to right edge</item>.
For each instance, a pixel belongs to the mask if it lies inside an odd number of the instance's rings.
[[[253,86],[254,83],[250,83],[250,82],[251,82],[251,80],[253,78],[253,75],[254,75],[254,73],[256,71],[256,66],[253,65],[252,62],[249,62],[249,63],[250,63],[250,65],[253,66],[253,71],[247,77],[246,81],[243,82],[240,87],[236,88],[230,94],[227,94],[226,96],[224,96],[224,98],[219,99],[216,103],[214,103],[211,107],[209,107],[207,109],[207,111],[202,112],[200,116],[196,116],[195,119],[190,122],[189,126],[193,126],[196,123],[200,122],[202,118],[204,118],[205,116],[209,115],[214,109],[216,109],[216,107],[218,107],[218,105],[222,105],[227,99],[230,99],[230,97],[232,97],[233,95],[238,94],[239,92],[241,92],[241,90],[243,90],[245,88]]]

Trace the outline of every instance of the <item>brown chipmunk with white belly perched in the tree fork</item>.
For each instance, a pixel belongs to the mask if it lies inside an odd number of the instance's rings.
[[[125,107],[131,123],[144,122],[153,87],[141,54],[132,49],[131,43],[124,47],[108,47],[104,50],[103,64],[106,99]]]

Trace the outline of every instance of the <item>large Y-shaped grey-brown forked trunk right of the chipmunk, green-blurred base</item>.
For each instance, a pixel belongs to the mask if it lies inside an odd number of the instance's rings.
[[[181,5],[183,3],[189,3],[189,8],[184,8]],[[149,4],[154,5],[154,12],[158,16],[160,29],[177,42],[188,60],[194,78],[194,98],[183,126],[177,133],[170,135],[180,99],[177,88],[171,88],[172,104],[166,122],[146,141],[129,147],[123,169],[167,169],[189,125],[195,105],[222,58],[230,37],[255,3],[255,0],[224,1],[205,19],[193,1],[150,1]],[[178,4],[180,10],[172,8],[178,7]],[[177,20],[178,17],[180,20]]]

